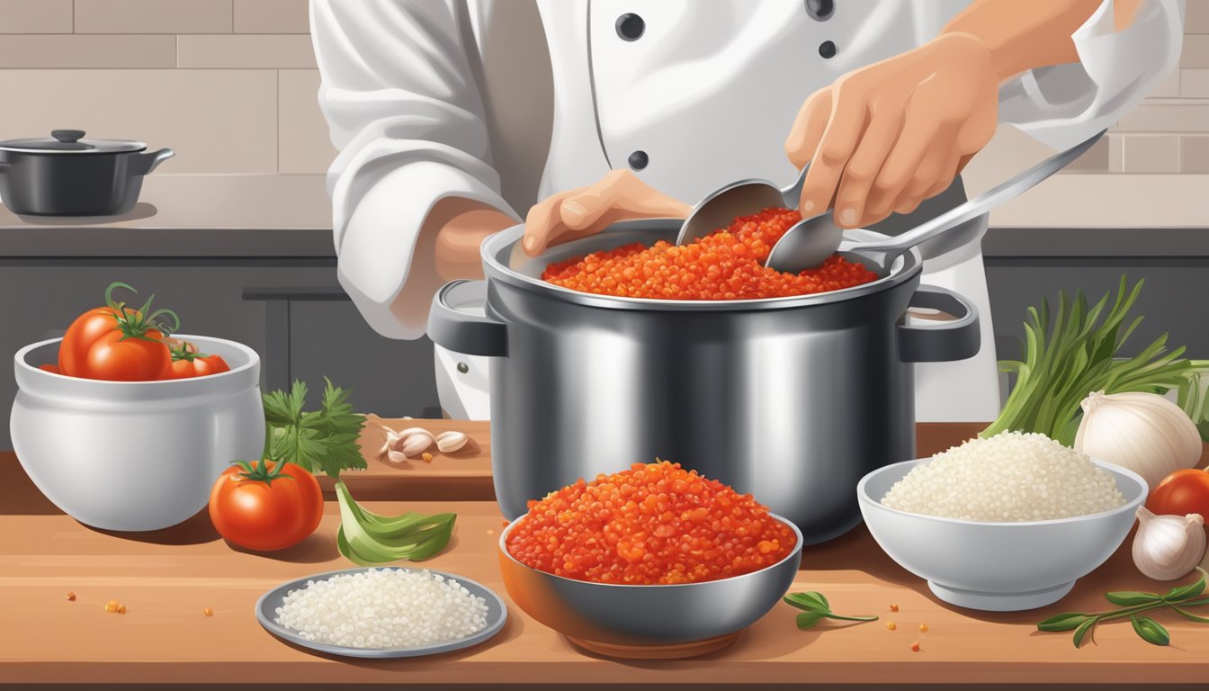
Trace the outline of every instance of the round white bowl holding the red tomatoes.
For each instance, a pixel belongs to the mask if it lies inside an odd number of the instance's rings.
[[[12,445],[25,473],[76,520],[106,530],[158,530],[193,516],[231,461],[265,444],[260,357],[245,345],[181,335],[231,372],[166,381],[51,374],[59,340],[15,357]]]

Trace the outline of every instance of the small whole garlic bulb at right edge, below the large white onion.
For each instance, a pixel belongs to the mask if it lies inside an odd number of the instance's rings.
[[[1155,516],[1144,506],[1133,553],[1138,570],[1156,581],[1186,576],[1205,554],[1204,519],[1199,513]]]

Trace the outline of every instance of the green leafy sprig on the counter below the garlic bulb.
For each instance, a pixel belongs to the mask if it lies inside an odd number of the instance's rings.
[[[1209,598],[1201,597],[1205,591],[1204,569],[1197,566],[1201,577],[1194,583],[1179,586],[1163,593],[1141,593],[1136,591],[1118,591],[1105,593],[1104,599],[1121,609],[1106,612],[1084,614],[1068,612],[1049,617],[1037,624],[1037,630],[1075,630],[1075,647],[1083,645],[1084,640],[1093,640],[1095,627],[1106,621],[1129,618],[1134,633],[1139,638],[1152,645],[1168,645],[1172,643],[1172,634],[1157,621],[1140,616],[1143,612],[1169,609],[1181,617],[1199,623],[1209,623],[1209,618],[1187,611],[1187,607],[1209,605]]]

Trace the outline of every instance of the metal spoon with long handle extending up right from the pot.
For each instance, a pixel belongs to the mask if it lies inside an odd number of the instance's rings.
[[[1000,205],[1014,200],[1025,190],[1032,188],[1041,180],[1057,173],[1068,163],[1087,151],[1104,134],[1099,131],[1084,142],[1066,149],[1059,154],[1041,161],[1036,166],[1019,173],[1018,175],[1001,183],[977,197],[968,200],[941,215],[915,226],[902,235],[875,241],[843,240],[840,231],[832,223],[831,212],[798,221],[781,236],[781,240],[773,246],[773,252],[768,255],[765,266],[797,273],[804,269],[818,266],[828,257],[839,252],[854,252],[862,258],[877,264],[883,270],[912,247],[931,240],[932,237],[950,230],[967,220],[977,218]],[[798,175],[798,189],[803,175]],[[791,206],[792,205],[786,205]],[[689,217],[690,219],[693,217]],[[722,228],[721,225],[718,228]]]

